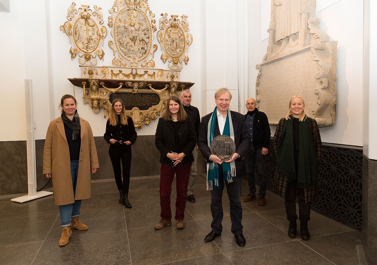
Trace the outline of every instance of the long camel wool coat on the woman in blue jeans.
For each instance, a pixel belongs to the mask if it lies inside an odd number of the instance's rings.
[[[63,119],[54,119],[47,129],[43,150],[43,174],[51,173],[56,205],[72,204],[75,200],[90,198],[91,169],[99,168],[99,164],[92,128],[82,118],[80,126],[81,147],[75,198]]]

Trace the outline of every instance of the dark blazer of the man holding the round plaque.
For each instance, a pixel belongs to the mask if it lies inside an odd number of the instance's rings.
[[[250,146],[250,137],[247,131],[245,117],[241,113],[230,111],[233,131],[234,131],[234,143],[236,144],[236,153],[238,153],[239,158],[237,158],[234,163],[236,164],[236,177],[242,178],[245,175],[245,161],[242,161],[247,154],[247,151]],[[202,118],[199,130],[199,139],[198,139],[198,148],[202,155],[204,156],[207,163],[210,162],[211,150],[208,147],[207,141],[207,129],[208,123],[211,119],[212,112],[208,115],[205,115]],[[220,135],[220,129],[218,120],[216,117],[216,127],[215,127],[215,136]]]

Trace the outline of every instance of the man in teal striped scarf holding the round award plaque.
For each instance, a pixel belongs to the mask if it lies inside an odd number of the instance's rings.
[[[230,111],[232,95],[227,88],[215,93],[214,111],[202,118],[199,129],[198,147],[207,161],[207,190],[211,190],[212,231],[204,238],[210,242],[221,235],[222,191],[227,186],[230,201],[231,232],[237,244],[244,247],[242,234],[241,183],[245,175],[244,159],[250,146],[245,117]]]

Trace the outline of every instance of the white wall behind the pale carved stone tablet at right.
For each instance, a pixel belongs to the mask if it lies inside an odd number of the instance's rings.
[[[260,9],[260,1],[253,0],[250,49],[255,53],[250,56],[249,73],[253,77],[249,82],[250,97],[255,96],[257,70],[254,66],[261,63],[268,45],[268,40],[261,41]],[[338,41],[336,122],[331,127],[320,128],[322,141],[362,146],[363,1],[340,0],[317,12],[317,17],[321,20],[320,29],[330,40]],[[270,20],[269,17],[262,19]],[[271,126],[272,133],[275,128]]]

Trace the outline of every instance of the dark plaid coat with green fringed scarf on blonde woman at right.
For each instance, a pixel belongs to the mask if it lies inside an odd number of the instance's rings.
[[[276,152],[276,166],[279,176],[288,182],[297,181],[298,188],[310,188],[317,184],[317,159],[314,155],[309,119],[299,121],[299,161],[296,176],[293,153],[293,117],[285,120],[282,139]]]

